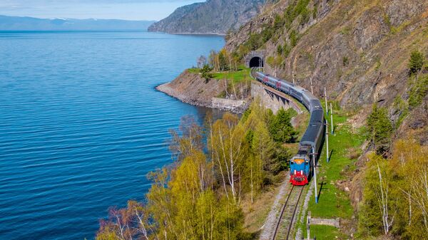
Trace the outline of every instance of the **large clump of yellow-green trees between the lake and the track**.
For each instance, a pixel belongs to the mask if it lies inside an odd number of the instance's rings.
[[[146,204],[112,208],[96,239],[245,239],[243,194],[253,203],[281,169],[278,160],[290,157],[277,150],[266,116],[256,100],[241,120],[208,117],[203,129],[183,118],[180,134],[171,131],[175,162],[148,175]]]

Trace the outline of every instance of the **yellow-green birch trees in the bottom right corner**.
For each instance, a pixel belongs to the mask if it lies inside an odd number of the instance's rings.
[[[427,153],[414,140],[399,140],[390,160],[370,155],[360,209],[361,234],[392,233],[403,239],[427,236]]]

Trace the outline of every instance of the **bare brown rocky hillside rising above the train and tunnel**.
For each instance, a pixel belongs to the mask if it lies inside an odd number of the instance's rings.
[[[397,124],[407,110],[396,103],[406,103],[412,88],[410,53],[428,59],[428,1],[280,0],[227,39],[225,48],[240,56],[264,50],[265,71],[275,74],[276,67],[278,76],[307,89],[312,79],[315,95],[327,87],[330,100],[359,110],[362,119],[372,103],[387,106]],[[428,132],[427,103],[409,109],[399,132]],[[428,144],[428,136],[418,137]]]

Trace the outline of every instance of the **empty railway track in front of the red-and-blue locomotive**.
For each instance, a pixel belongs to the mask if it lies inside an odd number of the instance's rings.
[[[297,212],[297,207],[305,187],[292,186],[282,206],[280,219],[278,219],[272,240],[288,240],[292,238],[292,225]]]

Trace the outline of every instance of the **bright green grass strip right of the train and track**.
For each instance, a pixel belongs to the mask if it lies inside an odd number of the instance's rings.
[[[324,104],[323,104],[324,105]],[[346,171],[343,169],[353,169],[355,160],[351,160],[348,155],[350,151],[360,151],[359,147],[364,141],[364,137],[352,132],[351,126],[347,122],[347,117],[338,110],[335,110],[333,122],[336,126],[335,135],[329,135],[329,150],[333,150],[330,162],[326,162],[326,144],[324,145],[321,157],[318,162],[319,174],[317,174],[317,191],[320,192],[319,202],[315,204],[315,194],[312,194],[308,211],[313,217],[350,219],[354,212],[350,199],[346,192],[337,189],[335,182],[344,179]],[[331,131],[330,116],[329,131]],[[330,132],[329,132],[330,133]],[[302,229],[306,232],[306,229]],[[340,236],[339,230],[331,226],[311,226],[311,235],[315,234],[317,239],[335,239]]]

